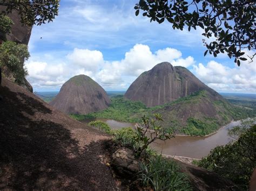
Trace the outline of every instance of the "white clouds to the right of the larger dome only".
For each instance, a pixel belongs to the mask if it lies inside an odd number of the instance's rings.
[[[246,51],[247,55],[253,52]],[[192,72],[203,82],[217,91],[256,92],[256,62],[242,61],[240,67],[227,67],[216,61],[193,65]]]

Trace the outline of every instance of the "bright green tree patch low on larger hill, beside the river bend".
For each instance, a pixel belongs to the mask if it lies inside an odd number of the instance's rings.
[[[187,119],[187,126],[181,129],[181,131],[186,135],[205,136],[218,130],[219,125],[214,119],[213,121],[211,121],[211,119],[207,119],[206,121],[207,123],[190,117]]]

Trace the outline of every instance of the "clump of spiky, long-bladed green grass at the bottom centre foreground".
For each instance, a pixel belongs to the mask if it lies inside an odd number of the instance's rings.
[[[142,164],[139,179],[144,187],[153,190],[192,190],[185,173],[173,160],[156,155]]]

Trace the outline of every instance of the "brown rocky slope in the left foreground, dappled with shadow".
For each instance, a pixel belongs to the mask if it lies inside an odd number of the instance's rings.
[[[104,133],[87,128],[22,87],[0,87],[0,190],[119,190]]]

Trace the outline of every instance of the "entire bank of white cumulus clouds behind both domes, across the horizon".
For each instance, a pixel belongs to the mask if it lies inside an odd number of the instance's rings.
[[[252,52],[248,52],[251,55]],[[116,61],[104,60],[103,54],[97,50],[75,48],[64,56],[68,60],[55,63],[54,56],[46,56],[46,61],[26,62],[29,81],[33,87],[59,88],[70,77],[85,74],[92,77],[105,89],[127,89],[141,73],[151,69],[157,63],[168,61],[173,66],[191,68],[201,81],[217,91],[255,92],[255,61],[243,61],[241,66],[225,66],[217,61],[209,61],[206,65],[197,63],[192,56],[182,57],[182,53],[174,48],[158,49],[152,52],[143,44],[134,45]],[[68,61],[68,62],[67,62]],[[51,64],[49,64],[51,63]]]

